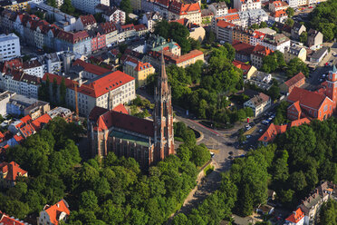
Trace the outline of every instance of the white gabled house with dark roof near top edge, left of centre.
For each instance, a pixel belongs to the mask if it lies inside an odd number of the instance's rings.
[[[106,22],[113,22],[115,24],[125,24],[125,12],[116,6],[110,7],[108,5],[99,4],[95,9],[96,13],[101,13],[101,16]]]

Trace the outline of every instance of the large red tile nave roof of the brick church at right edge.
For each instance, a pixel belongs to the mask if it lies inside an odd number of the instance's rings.
[[[304,105],[318,110],[325,100],[325,96],[320,93],[313,93],[302,88],[294,87],[293,91],[288,95],[288,102],[300,102]]]

